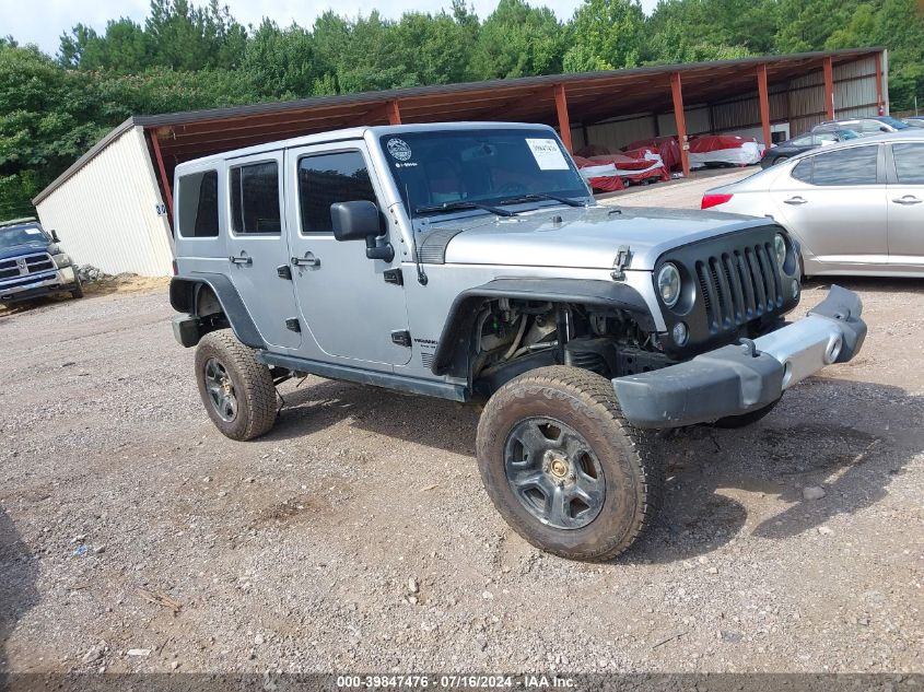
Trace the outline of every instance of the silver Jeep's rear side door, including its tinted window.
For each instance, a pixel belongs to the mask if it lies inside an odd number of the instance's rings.
[[[234,288],[268,344],[297,349],[299,309],[289,266],[282,210],[282,152],[230,162],[227,253]]]

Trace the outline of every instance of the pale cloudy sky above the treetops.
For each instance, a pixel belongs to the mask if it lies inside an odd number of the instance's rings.
[[[469,0],[476,13],[482,19],[498,5],[496,0]],[[203,3],[203,2],[201,2]],[[530,4],[545,4],[551,8],[560,20],[568,20],[582,0],[530,0]],[[645,12],[651,12],[657,0],[642,0]],[[194,0],[194,4],[200,4]],[[361,0],[225,0],[231,13],[244,25],[259,24],[264,16],[269,16],[280,26],[293,21],[302,26],[311,26],[316,16],[334,9],[338,14],[356,16],[361,12],[369,14],[378,7],[378,11],[391,19],[397,19],[409,10],[438,12],[449,7],[449,0],[386,0],[375,3]],[[20,44],[36,44],[49,55],[58,51],[61,34],[70,32],[74,24],[82,23],[102,32],[106,22],[119,16],[129,16],[142,22],[148,14],[149,0],[32,0],[22,4],[17,0],[0,0],[0,35],[12,36]]]

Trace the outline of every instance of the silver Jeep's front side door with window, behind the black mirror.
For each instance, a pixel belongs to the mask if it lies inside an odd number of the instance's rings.
[[[397,231],[386,239],[396,247],[390,262],[367,259],[365,243],[334,238],[330,206],[369,200],[382,206],[363,142],[323,144],[286,152],[286,203],[299,307],[314,343],[305,357],[390,370],[410,361],[405,341],[405,291],[393,273],[400,266]],[[383,214],[382,227],[388,225]]]

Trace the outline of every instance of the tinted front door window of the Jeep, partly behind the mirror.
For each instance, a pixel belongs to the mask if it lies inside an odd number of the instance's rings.
[[[358,151],[303,156],[299,160],[299,206],[302,233],[332,233],[330,206],[375,200],[369,168]]]

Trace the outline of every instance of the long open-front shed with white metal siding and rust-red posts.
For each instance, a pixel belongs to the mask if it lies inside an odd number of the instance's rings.
[[[209,154],[363,125],[512,120],[557,126],[571,151],[655,137],[795,137],[888,113],[886,51],[861,48],[550,74],[129,118],[33,202],[79,265],[168,275],[173,172]],[[775,134],[775,133],[780,134]],[[681,148],[682,150],[683,148]],[[685,171],[687,152],[681,151]]]

